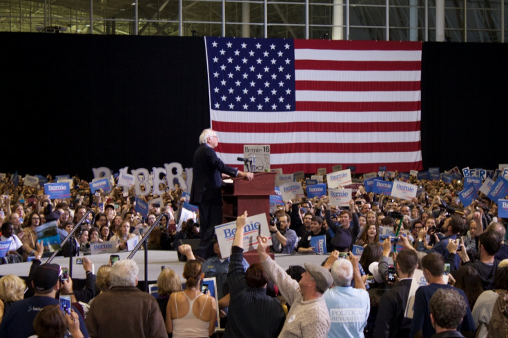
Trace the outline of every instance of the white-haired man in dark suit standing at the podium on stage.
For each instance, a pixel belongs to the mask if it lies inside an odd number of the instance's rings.
[[[254,178],[252,172],[242,172],[217,157],[213,148],[219,144],[215,131],[205,129],[199,135],[199,148],[194,152],[193,184],[190,189],[190,203],[199,208],[200,243],[197,255],[207,258],[213,255],[215,226],[222,224],[221,174],[232,177]]]

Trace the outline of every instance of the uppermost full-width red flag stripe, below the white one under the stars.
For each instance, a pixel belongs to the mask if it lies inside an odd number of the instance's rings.
[[[411,122],[364,122],[364,123],[333,123],[333,122],[291,122],[291,123],[235,123],[213,121],[213,129],[217,132],[406,132],[419,131],[420,121]]]

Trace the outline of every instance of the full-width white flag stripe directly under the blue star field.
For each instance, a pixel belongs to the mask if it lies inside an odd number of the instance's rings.
[[[340,123],[364,123],[364,122],[414,122],[420,121],[421,111],[404,112],[239,112],[211,110],[213,121],[233,123],[271,123],[274,121],[284,122],[340,122]]]

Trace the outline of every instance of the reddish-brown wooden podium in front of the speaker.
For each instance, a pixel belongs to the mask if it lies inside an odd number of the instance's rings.
[[[270,221],[270,195],[275,194],[276,172],[257,172],[254,179],[233,178],[233,183],[222,185],[222,221],[234,221],[247,210],[248,215],[265,213]]]

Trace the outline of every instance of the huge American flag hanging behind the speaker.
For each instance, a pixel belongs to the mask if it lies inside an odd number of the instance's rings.
[[[217,156],[271,146],[284,173],[422,170],[422,43],[206,37]]]

